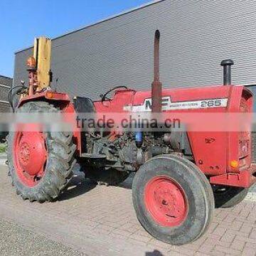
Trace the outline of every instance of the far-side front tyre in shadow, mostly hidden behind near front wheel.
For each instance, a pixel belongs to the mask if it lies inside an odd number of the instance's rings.
[[[248,193],[248,188],[231,186],[214,186],[213,194],[216,208],[230,208],[242,202]]]

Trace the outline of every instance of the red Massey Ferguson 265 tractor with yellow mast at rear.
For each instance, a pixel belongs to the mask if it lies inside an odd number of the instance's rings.
[[[177,113],[250,113],[252,93],[231,85],[232,60],[223,60],[223,85],[162,89],[159,81],[159,38],[154,38],[154,82],[151,90],[114,87],[92,102],[50,88],[50,44],[37,38],[28,58],[28,86],[13,106],[26,113],[151,113],[161,119]],[[93,86],[93,85],[92,85]],[[16,92],[16,93],[14,93]],[[112,93],[112,96],[111,96]],[[75,124],[74,124],[75,125]],[[18,195],[29,201],[53,201],[65,192],[76,162],[85,176],[114,185],[135,173],[132,198],[137,218],[154,238],[183,245],[203,235],[215,207],[240,203],[255,183],[250,131],[31,131],[9,134],[9,174]],[[186,124],[185,124],[186,127]],[[86,209],[85,209],[86,210]]]

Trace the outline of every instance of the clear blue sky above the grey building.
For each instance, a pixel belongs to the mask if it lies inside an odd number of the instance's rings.
[[[0,75],[13,77],[14,53],[33,38],[55,38],[150,0],[1,0]]]

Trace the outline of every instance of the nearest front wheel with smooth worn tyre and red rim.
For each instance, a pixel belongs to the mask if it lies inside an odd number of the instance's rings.
[[[147,161],[134,177],[132,197],[145,230],[172,245],[201,237],[213,215],[213,191],[206,176],[178,156]]]

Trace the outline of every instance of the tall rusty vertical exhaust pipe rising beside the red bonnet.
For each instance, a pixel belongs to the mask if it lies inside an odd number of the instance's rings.
[[[154,37],[154,81],[151,84],[152,112],[161,112],[162,83],[159,81],[159,41],[160,32]]]

